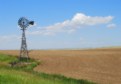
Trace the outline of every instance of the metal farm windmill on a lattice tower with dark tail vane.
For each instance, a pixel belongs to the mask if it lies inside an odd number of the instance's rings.
[[[34,21],[29,21],[25,17],[21,17],[18,20],[18,25],[21,27],[22,30],[22,41],[21,41],[21,49],[20,49],[20,56],[19,60],[28,60],[29,59],[29,54],[27,50],[27,43],[26,43],[26,35],[25,35],[25,30],[30,26],[34,25]]]

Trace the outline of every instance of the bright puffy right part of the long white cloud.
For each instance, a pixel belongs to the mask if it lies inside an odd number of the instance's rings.
[[[82,25],[97,25],[97,24],[105,24],[110,22],[113,19],[112,16],[86,16],[82,13],[77,13],[71,20],[71,23],[74,25],[82,26]]]

